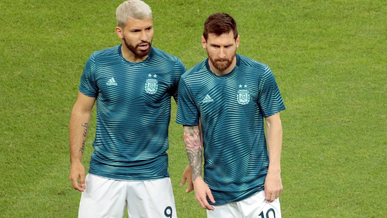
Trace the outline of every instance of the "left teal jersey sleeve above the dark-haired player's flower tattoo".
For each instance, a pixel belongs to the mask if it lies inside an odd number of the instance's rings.
[[[196,108],[192,92],[183,79],[180,79],[179,84],[176,123],[187,126],[199,125],[199,112]]]

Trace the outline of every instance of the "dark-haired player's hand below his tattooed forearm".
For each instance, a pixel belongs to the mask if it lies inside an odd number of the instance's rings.
[[[205,184],[202,177],[197,177],[193,183],[195,197],[200,206],[204,209],[214,210],[214,207],[208,203],[207,196],[212,203],[215,203],[214,197],[212,196],[210,188],[207,184]]]

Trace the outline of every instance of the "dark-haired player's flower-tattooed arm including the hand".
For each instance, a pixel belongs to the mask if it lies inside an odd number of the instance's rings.
[[[215,203],[214,197],[208,185],[202,179],[202,153],[203,145],[200,137],[199,126],[183,126],[184,127],[184,144],[187,151],[188,160],[192,171],[192,182],[194,183],[194,190],[196,200],[202,208],[214,210],[207,197],[212,203]]]

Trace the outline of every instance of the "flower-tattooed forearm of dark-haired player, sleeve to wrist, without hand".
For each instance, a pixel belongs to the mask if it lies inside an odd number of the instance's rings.
[[[202,176],[203,146],[199,126],[184,126],[184,144],[192,170],[192,180]]]

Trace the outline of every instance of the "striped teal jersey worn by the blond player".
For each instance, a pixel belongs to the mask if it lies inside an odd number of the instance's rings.
[[[116,180],[169,177],[171,96],[186,68],[152,47],[142,62],[123,58],[121,45],[94,52],[79,91],[96,97],[97,126],[89,173]]]

